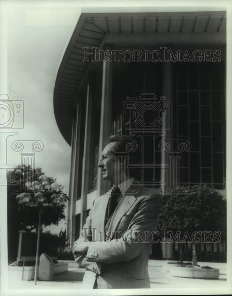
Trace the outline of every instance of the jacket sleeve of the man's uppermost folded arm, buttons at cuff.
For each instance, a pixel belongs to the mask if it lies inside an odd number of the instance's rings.
[[[120,239],[110,242],[91,242],[86,255],[88,261],[109,264],[136,258],[150,242],[149,237],[156,227],[161,207],[162,196],[146,196],[138,205],[138,210],[128,226],[130,231],[126,231]]]

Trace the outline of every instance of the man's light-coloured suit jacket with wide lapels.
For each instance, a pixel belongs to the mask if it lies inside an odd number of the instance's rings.
[[[106,223],[111,191],[95,199],[78,239],[89,241],[87,253],[75,254],[86,267],[82,287],[92,289],[97,278],[98,289],[150,288],[148,233],[156,227],[162,197],[154,189],[131,185]]]

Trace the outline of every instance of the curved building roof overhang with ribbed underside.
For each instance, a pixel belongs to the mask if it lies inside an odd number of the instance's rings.
[[[151,9],[154,12],[151,12]],[[167,8],[166,8],[167,9]],[[182,11],[175,11],[181,9]],[[72,139],[72,119],[83,81],[93,66],[85,59],[83,47],[136,44],[225,44],[225,8],[159,7],[82,9],[57,72],[54,87],[54,114],[68,144]],[[216,10],[215,10],[216,9]],[[147,12],[149,10],[149,12]],[[88,12],[87,12],[88,11]],[[95,63],[96,64],[96,63]]]

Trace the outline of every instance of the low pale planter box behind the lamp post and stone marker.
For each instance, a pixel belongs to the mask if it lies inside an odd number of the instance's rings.
[[[22,266],[8,266],[8,277],[22,280]],[[24,266],[23,280],[30,281],[35,277],[35,266]],[[59,274],[68,270],[68,263],[55,263],[54,274]],[[37,278],[39,277],[39,268],[37,269]]]

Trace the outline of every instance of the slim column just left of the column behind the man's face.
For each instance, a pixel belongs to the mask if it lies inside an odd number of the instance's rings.
[[[91,133],[92,130],[92,88],[93,78],[92,75],[89,79],[87,86],[86,96],[86,120],[85,120],[85,137],[84,137],[84,153],[83,153],[83,166],[82,166],[82,183],[81,183],[81,211],[80,211],[80,229],[86,222],[86,205],[87,205],[87,194],[89,189],[89,176],[90,174],[90,160],[91,160]]]

